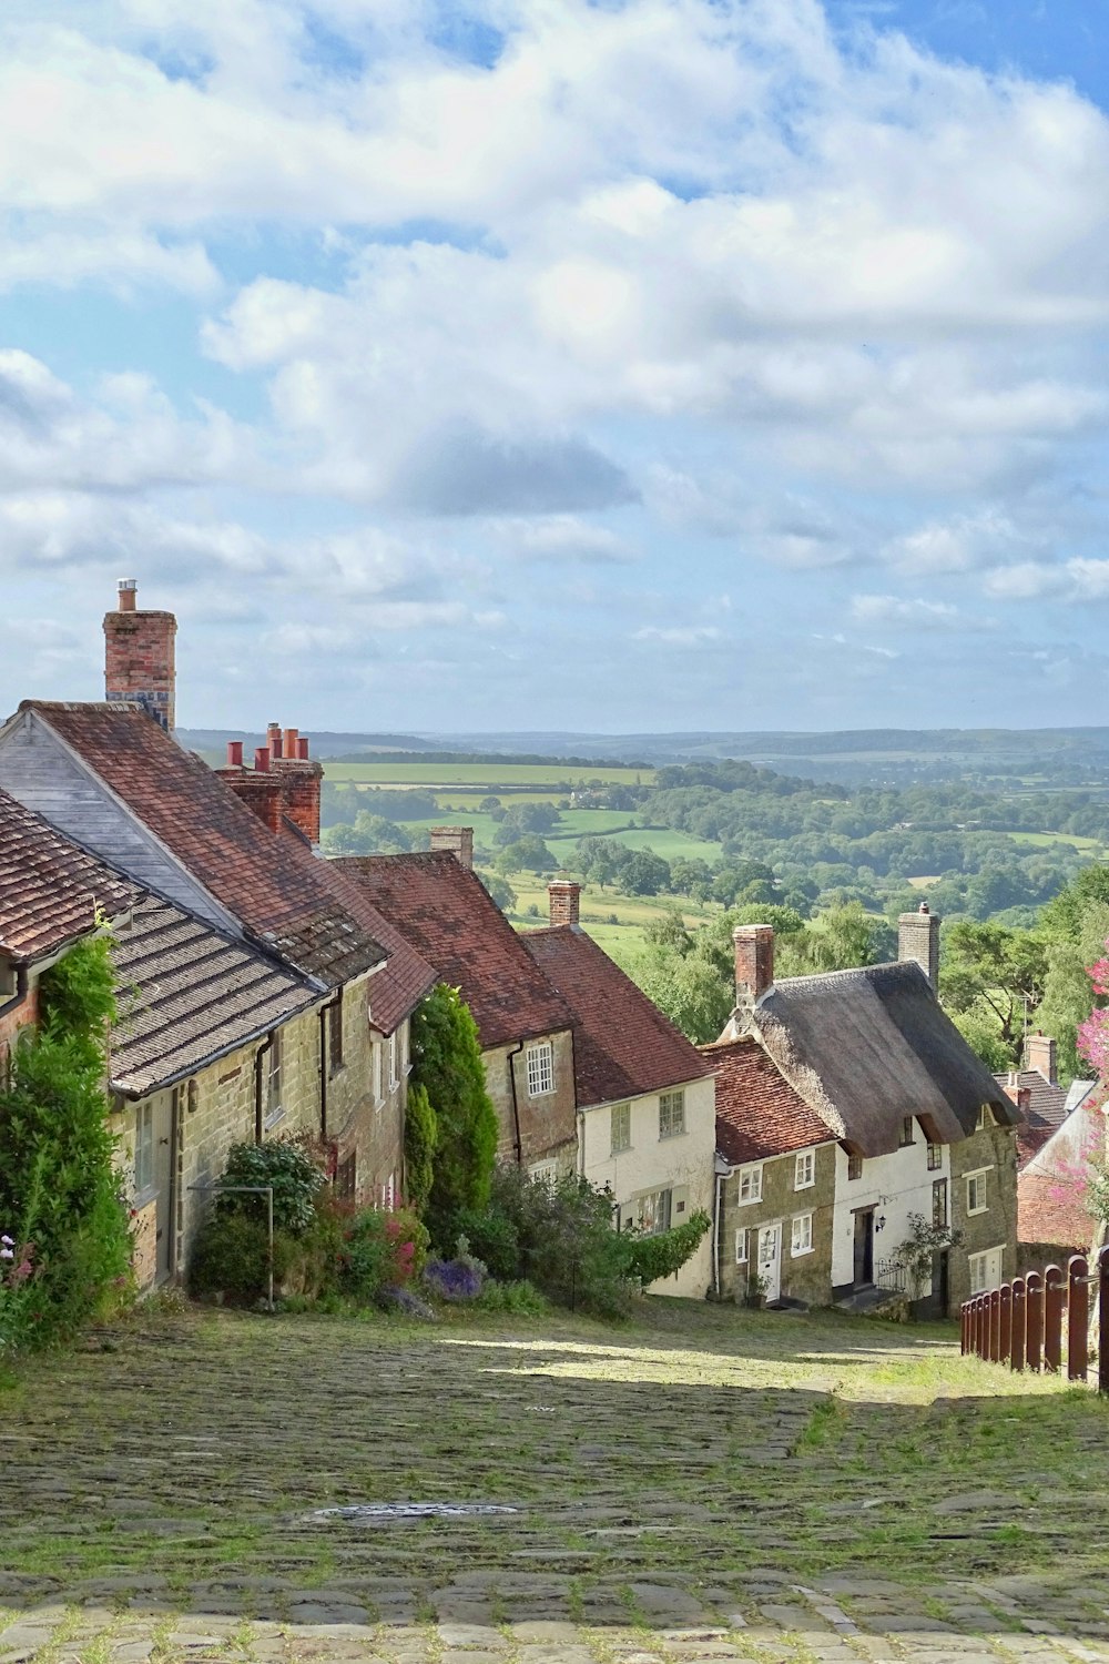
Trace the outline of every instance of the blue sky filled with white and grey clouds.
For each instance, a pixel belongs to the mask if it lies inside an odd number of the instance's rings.
[[[0,707],[1102,722],[1091,0],[5,0]]]

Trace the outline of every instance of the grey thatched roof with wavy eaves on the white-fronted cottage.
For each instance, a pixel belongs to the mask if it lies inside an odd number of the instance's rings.
[[[911,960],[776,982],[752,1028],[793,1090],[860,1155],[896,1150],[906,1115],[941,1143],[973,1133],[984,1103],[1004,1127],[1021,1120]]]

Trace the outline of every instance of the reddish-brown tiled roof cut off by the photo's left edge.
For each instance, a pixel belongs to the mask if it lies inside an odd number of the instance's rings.
[[[108,867],[0,792],[0,953],[18,963],[57,953],[115,919],[133,890]]]

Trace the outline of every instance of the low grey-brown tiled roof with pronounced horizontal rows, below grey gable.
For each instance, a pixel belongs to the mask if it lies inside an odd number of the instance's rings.
[[[241,942],[143,895],[113,935],[111,1087],[141,1097],[193,1075],[318,998]]]

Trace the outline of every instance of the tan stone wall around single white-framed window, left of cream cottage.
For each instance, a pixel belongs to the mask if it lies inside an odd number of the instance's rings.
[[[532,1097],[527,1090],[527,1052],[542,1045],[552,1048],[554,1092]],[[570,1030],[534,1035],[519,1045],[490,1047],[482,1052],[482,1063],[500,1125],[497,1160],[515,1161],[519,1142],[522,1166],[555,1161],[559,1170],[572,1173],[577,1158],[577,1098]]]

